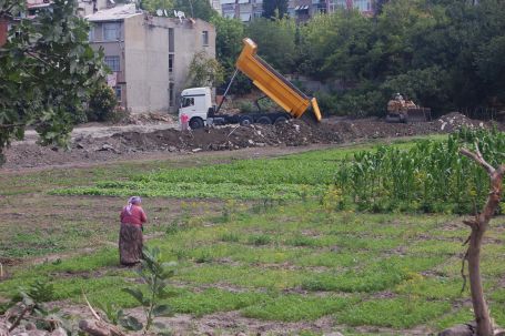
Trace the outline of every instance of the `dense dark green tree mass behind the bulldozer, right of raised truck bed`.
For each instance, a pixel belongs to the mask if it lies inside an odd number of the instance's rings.
[[[504,1],[380,4],[375,18],[349,10],[314,17],[301,27],[296,61],[290,52],[284,72],[332,83],[333,98],[320,95],[341,114],[384,113],[395,91],[435,113],[504,104]]]

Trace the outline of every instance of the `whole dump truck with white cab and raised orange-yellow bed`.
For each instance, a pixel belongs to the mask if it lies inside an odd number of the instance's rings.
[[[218,106],[212,104],[211,88],[185,89],[181,92],[179,120],[185,114],[184,119],[189,120],[189,126],[193,130],[211,124],[273,124],[285,122],[293,118],[301,118],[302,115],[316,122],[321,121],[321,111],[315,98],[305,95],[287,79],[256,55],[257,45],[251,39],[244,39],[243,44],[242,52],[235,63],[235,72],[226,86],[220,104]],[[249,77],[253,84],[279,104],[283,111],[270,113],[259,111],[257,113],[240,113],[234,115],[220,114],[221,106],[239,71]]]

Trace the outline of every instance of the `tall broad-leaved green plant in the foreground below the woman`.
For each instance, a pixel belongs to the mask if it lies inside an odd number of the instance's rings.
[[[138,271],[142,282],[147,285],[147,293],[140,288],[123,288],[123,292],[130,294],[143,307],[145,314],[145,326],[133,316],[125,316],[120,320],[121,325],[130,330],[141,330],[148,333],[154,325],[156,328],[164,328],[165,326],[155,323],[154,318],[160,316],[170,316],[171,308],[166,304],[160,304],[160,301],[170,296],[166,291],[168,279],[175,274],[175,263],[163,263],[161,253],[158,247],[149,250],[144,247],[142,251],[143,259],[141,261],[141,268]]]

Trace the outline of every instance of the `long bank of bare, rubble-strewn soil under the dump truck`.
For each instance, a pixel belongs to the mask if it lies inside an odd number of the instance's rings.
[[[73,132],[70,151],[42,147],[29,140],[6,151],[3,170],[37,166],[79,165],[113,160],[134,160],[147,154],[185,154],[232,151],[245,147],[293,147],[355,142],[367,139],[450,133],[461,126],[489,128],[491,123],[469,120],[457,112],[433,122],[385,123],[378,119],[326,119],[320,124],[291,120],[276,125],[218,126],[180,131],[173,122],[158,124],[80,128]],[[498,124],[505,130],[504,124]]]

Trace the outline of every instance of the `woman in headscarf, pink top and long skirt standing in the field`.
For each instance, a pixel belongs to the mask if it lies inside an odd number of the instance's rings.
[[[119,232],[119,255],[122,265],[131,266],[142,258],[142,231],[148,216],[142,208],[142,200],[132,196],[121,211]]]

